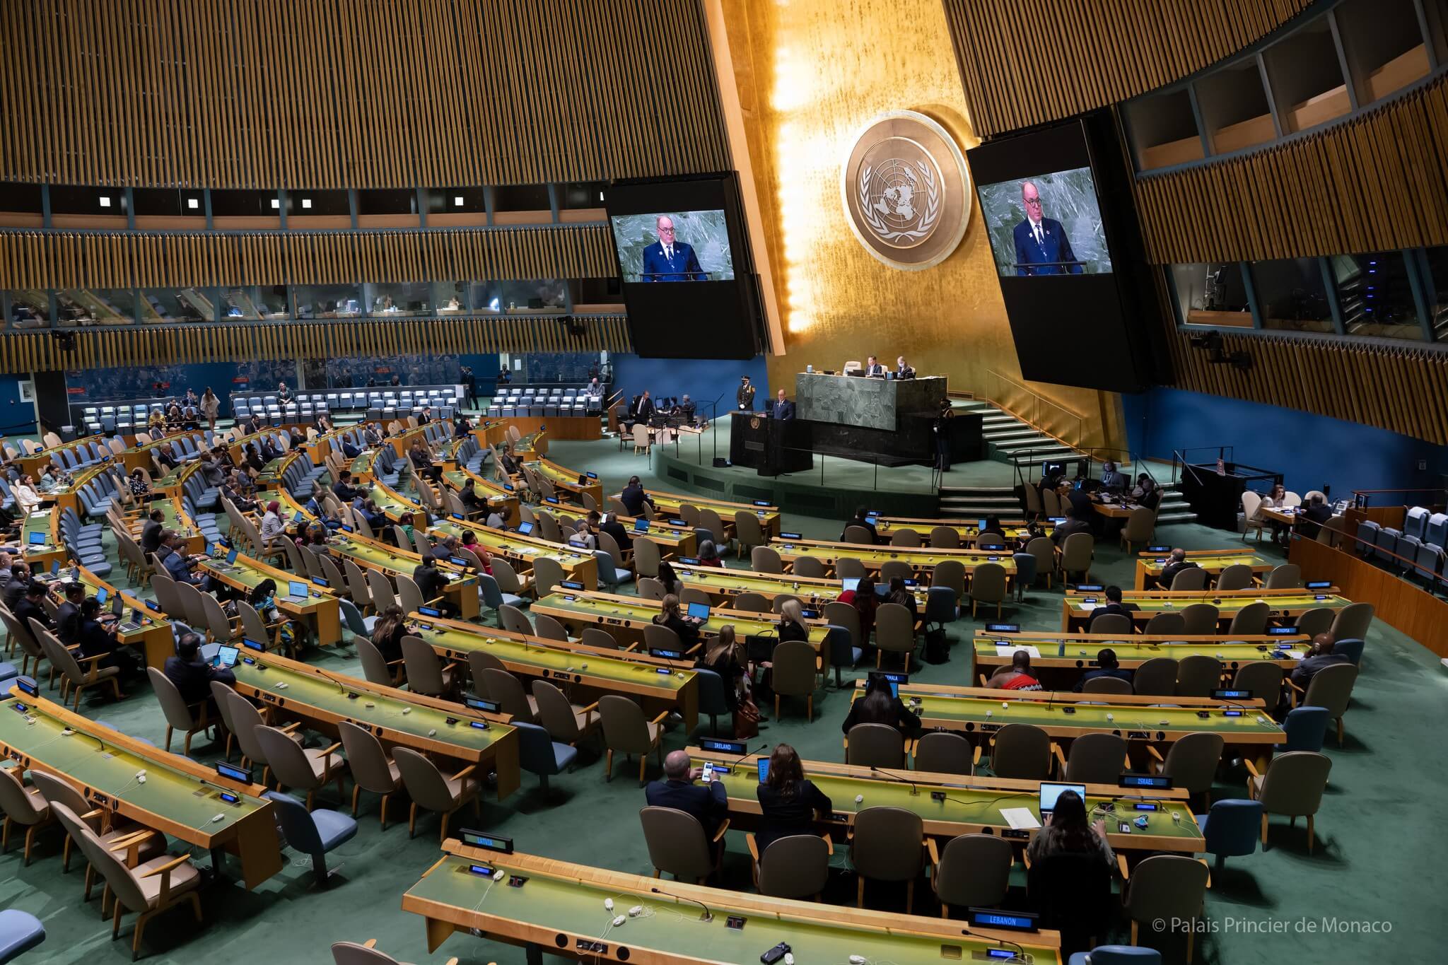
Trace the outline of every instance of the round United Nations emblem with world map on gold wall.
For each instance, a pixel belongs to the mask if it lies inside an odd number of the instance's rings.
[[[970,174],[950,133],[901,110],[854,139],[840,179],[846,220],[860,245],[905,271],[946,260],[966,234]]]

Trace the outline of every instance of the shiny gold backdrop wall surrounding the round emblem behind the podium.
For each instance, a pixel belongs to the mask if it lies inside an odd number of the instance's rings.
[[[927,271],[882,265],[846,223],[840,165],[876,114],[919,110],[977,143],[940,0],[744,0],[725,16],[783,313],[772,389],[794,394],[807,363],[905,354],[1067,443],[1125,446],[1119,396],[1021,379],[973,197],[960,247]]]

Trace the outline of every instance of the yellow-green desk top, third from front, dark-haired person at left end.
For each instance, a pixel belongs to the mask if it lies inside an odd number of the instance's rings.
[[[864,696],[863,680],[853,699]],[[993,734],[1008,723],[1030,723],[1051,736],[1116,734],[1128,741],[1179,741],[1189,734],[1222,735],[1229,747],[1281,744],[1283,729],[1260,699],[1158,697],[1109,693],[1019,692],[986,687],[901,684],[901,700],[924,728]],[[1158,706],[1171,705],[1171,706]],[[1200,715],[1206,715],[1205,718]]]

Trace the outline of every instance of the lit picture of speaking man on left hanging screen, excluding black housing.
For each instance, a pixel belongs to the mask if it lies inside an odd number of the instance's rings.
[[[615,214],[610,221],[626,282],[734,279],[724,211]]]

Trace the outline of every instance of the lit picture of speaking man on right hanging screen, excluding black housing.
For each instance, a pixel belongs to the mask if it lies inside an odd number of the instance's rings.
[[[979,187],[976,195],[999,273],[1111,273],[1090,168],[996,181]]]

